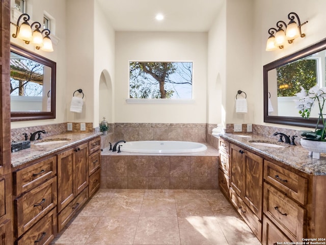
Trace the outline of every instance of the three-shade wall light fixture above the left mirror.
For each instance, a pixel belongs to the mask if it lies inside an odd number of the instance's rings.
[[[23,22],[19,26],[21,18]],[[49,37],[50,30],[43,29],[40,31],[41,24],[35,21],[30,25],[28,22],[29,20],[30,16],[28,14],[21,14],[17,20],[17,24],[10,22],[16,27],[16,33],[12,34],[12,37],[18,37],[19,39],[24,40],[26,44],[34,44],[37,50],[41,49],[46,52],[53,52],[52,41]],[[35,28],[33,32],[32,28]]]

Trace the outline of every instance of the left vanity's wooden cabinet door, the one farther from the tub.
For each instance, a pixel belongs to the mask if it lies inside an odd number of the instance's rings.
[[[58,154],[58,212],[74,199],[74,149]]]

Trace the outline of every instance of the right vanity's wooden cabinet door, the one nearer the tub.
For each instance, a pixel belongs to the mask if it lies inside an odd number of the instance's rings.
[[[242,197],[243,190],[243,153],[244,151],[239,146],[230,144],[231,187],[239,197]]]

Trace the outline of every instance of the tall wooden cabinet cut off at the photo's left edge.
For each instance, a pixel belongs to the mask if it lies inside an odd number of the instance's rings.
[[[13,244],[10,161],[10,1],[0,0],[0,245]]]

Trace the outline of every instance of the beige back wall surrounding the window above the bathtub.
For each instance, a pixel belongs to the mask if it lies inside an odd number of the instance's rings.
[[[191,104],[127,104],[129,61],[193,61]],[[117,32],[115,122],[205,123],[207,33]]]

